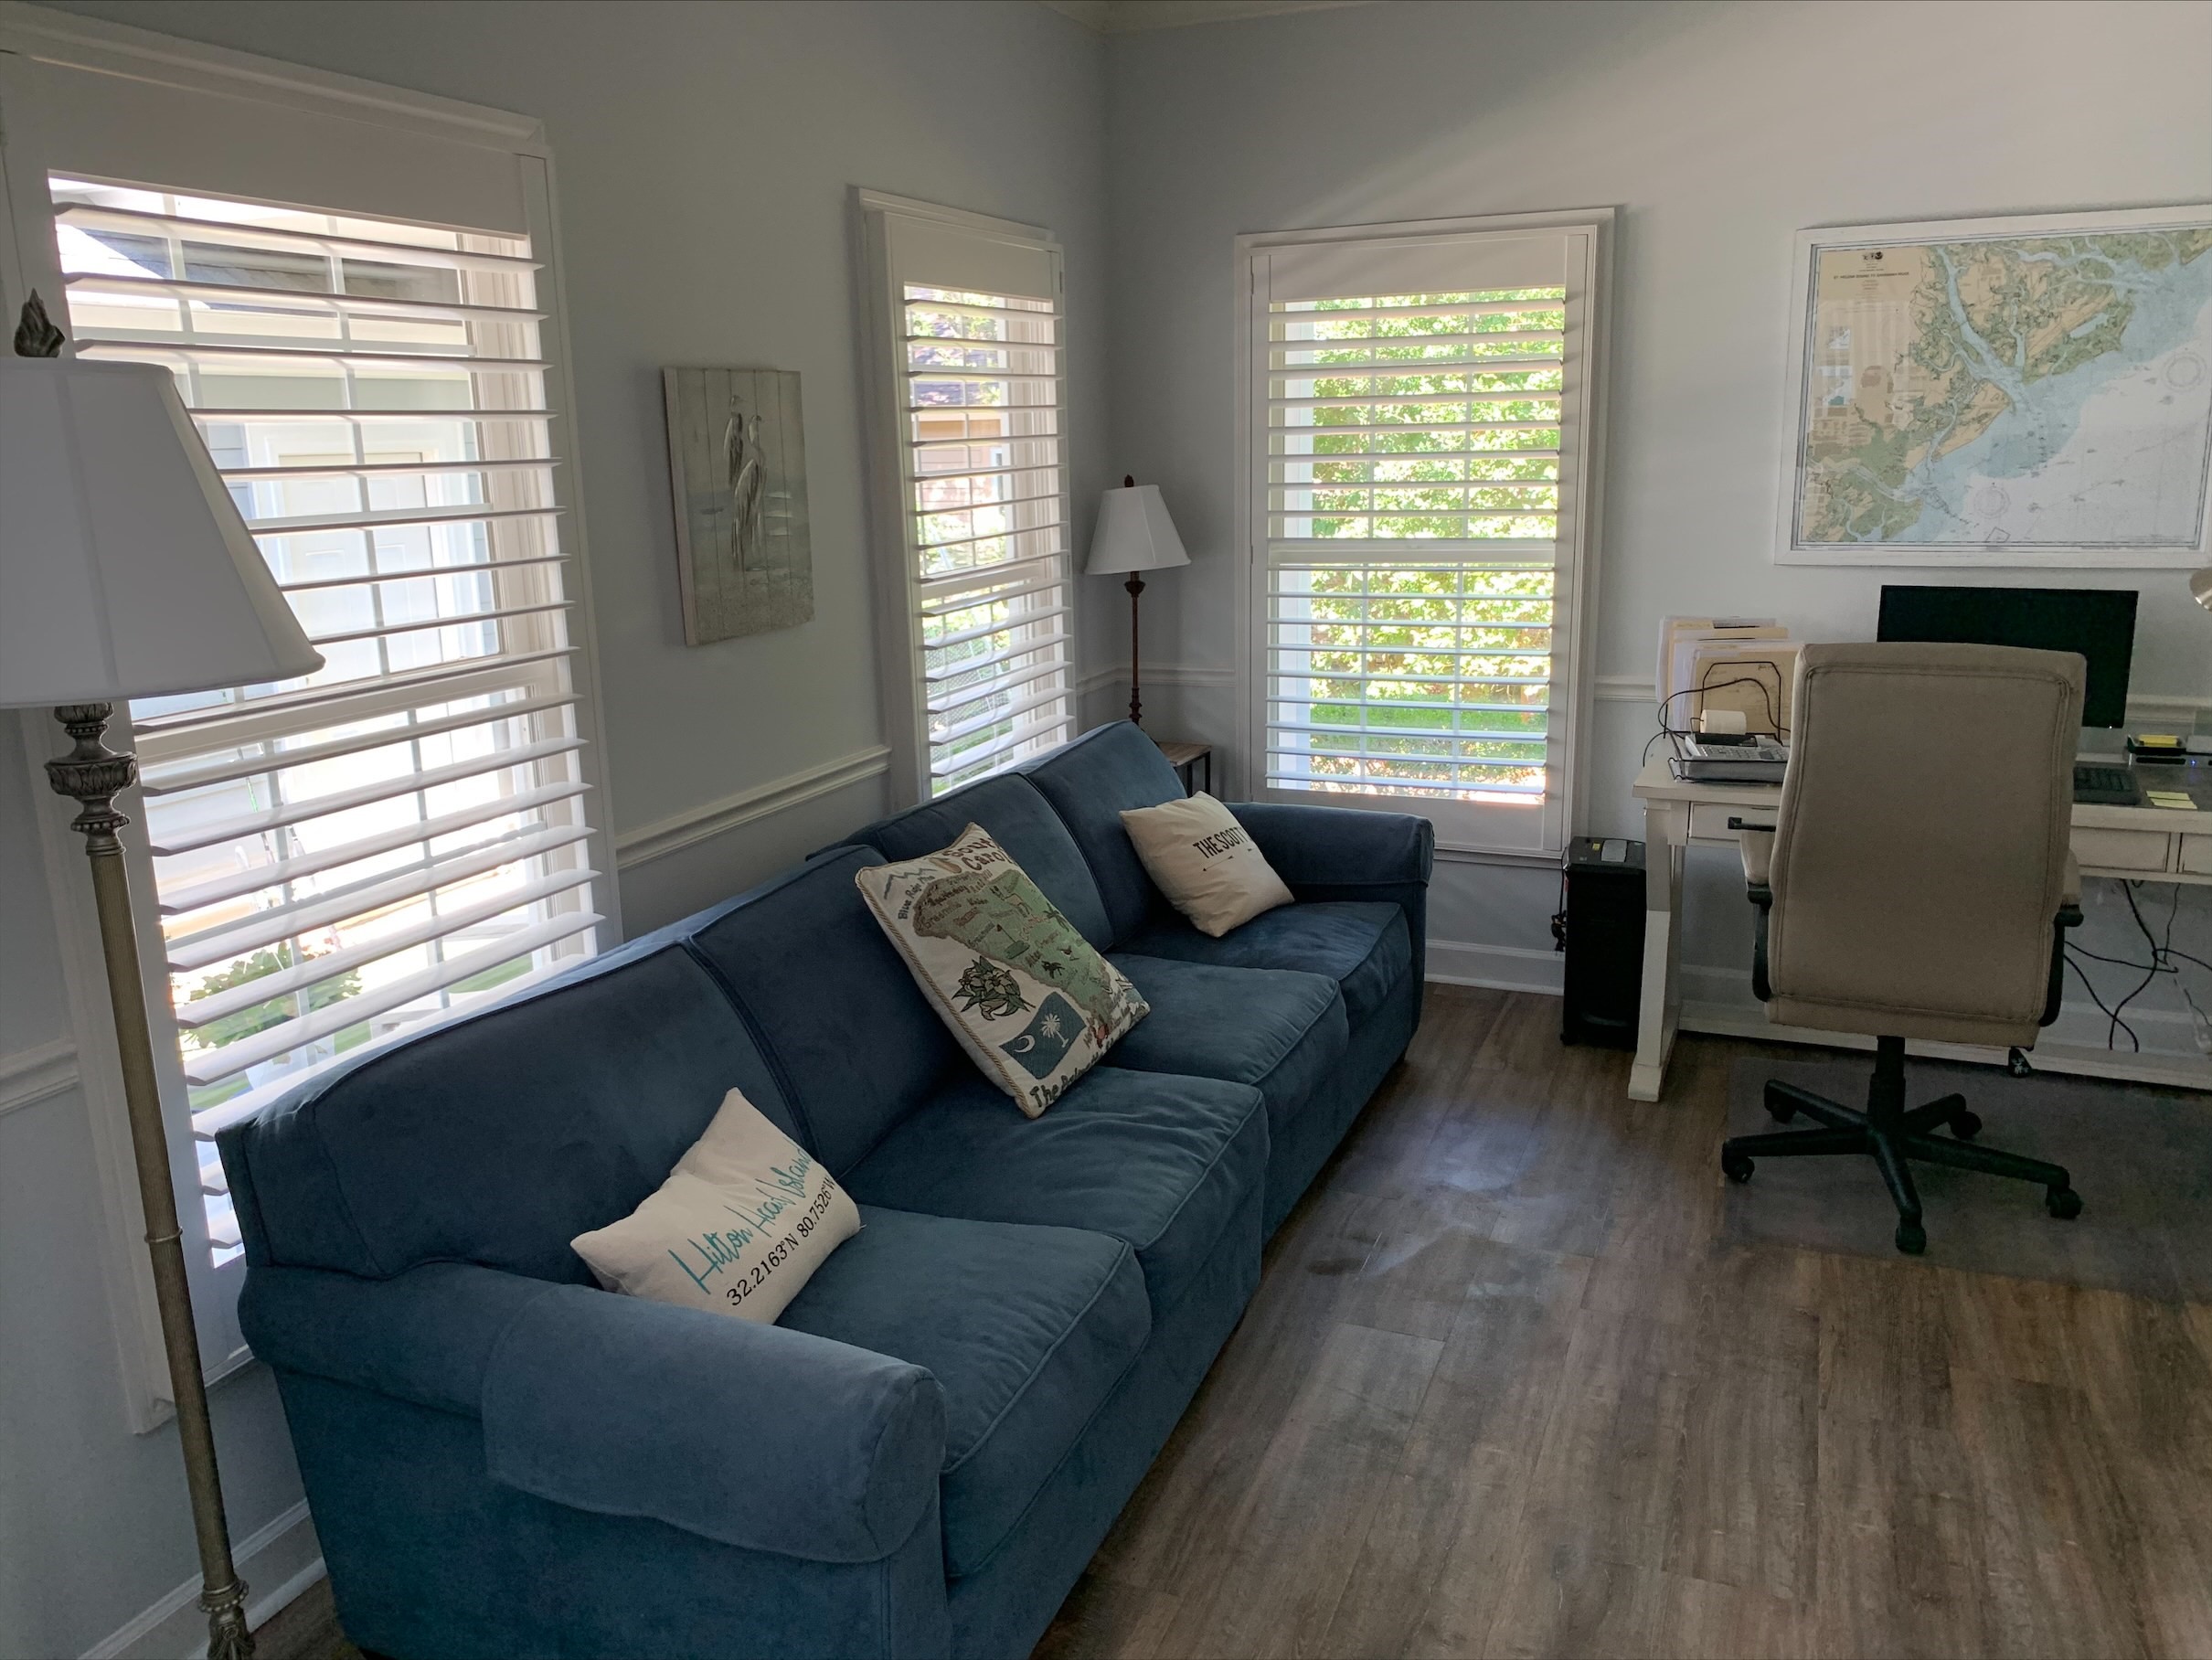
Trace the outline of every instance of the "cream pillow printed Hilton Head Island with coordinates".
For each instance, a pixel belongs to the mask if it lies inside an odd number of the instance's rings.
[[[830,1171],[732,1089],[644,1204],[568,1244],[606,1290],[772,1321],[858,1231]]]

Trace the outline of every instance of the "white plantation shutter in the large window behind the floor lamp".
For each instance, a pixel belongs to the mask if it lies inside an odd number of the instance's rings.
[[[80,354],[177,376],[325,668],[133,704],[201,1147],[602,943],[526,235],[53,177]]]

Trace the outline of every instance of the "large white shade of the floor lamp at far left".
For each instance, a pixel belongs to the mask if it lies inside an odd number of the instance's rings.
[[[321,666],[166,370],[0,359],[0,706]]]

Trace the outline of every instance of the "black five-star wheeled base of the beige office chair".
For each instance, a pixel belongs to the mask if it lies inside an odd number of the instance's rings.
[[[1796,1085],[1767,1082],[1767,1111],[1787,1124],[1805,1113],[1820,1129],[1781,1131],[1774,1135],[1732,1135],[1721,1144],[1721,1169],[1730,1182],[1752,1180],[1756,1158],[1825,1158],[1832,1153],[1865,1153],[1889,1186],[1898,1206],[1898,1251],[1920,1255],[1929,1248],[1920,1222],[1920,1193],[1913,1189],[1909,1162],[1949,1164],[1958,1171],[2008,1175],[2015,1182],[2037,1182],[2044,1208],[2059,1222],[2081,1215],[2081,1195],[2057,1164],[2039,1158],[2000,1153],[1993,1147],[1971,1147],[1982,1120],[1966,1111],[1964,1096],[1944,1096],[1927,1107],[1905,1107],[1905,1038],[1878,1038],[1874,1082],[1867,1087],[1867,1111],[1856,1111],[1827,1096],[1814,1096]],[[1949,1129],[1949,1135],[1936,1135]]]

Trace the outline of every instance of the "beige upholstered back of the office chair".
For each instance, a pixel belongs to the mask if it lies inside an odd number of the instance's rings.
[[[2062,651],[1805,649],[1770,868],[1767,1018],[2035,1042],[2081,675]]]

